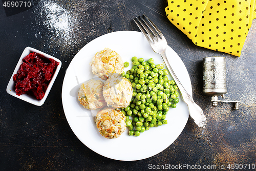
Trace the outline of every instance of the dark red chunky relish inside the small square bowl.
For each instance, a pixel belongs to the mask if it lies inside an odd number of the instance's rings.
[[[17,74],[13,76],[16,95],[27,93],[41,100],[58,65],[59,62],[54,59],[35,52],[24,57]]]

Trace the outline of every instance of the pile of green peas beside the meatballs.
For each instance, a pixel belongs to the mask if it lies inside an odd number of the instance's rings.
[[[124,62],[129,66],[129,62]],[[150,127],[167,124],[169,107],[176,108],[179,102],[178,87],[169,80],[163,64],[155,65],[154,59],[132,57],[132,69],[122,76],[129,79],[133,87],[132,100],[122,112],[126,116],[126,126],[130,136],[139,136]],[[130,118],[131,117],[131,118]]]

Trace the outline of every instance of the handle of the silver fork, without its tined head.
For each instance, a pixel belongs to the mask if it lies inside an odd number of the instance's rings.
[[[196,104],[194,102],[192,95],[188,94],[187,91],[185,90],[185,88],[182,86],[180,80],[178,79],[178,77],[174,73],[172,67],[170,67],[170,64],[167,60],[165,51],[162,52],[160,55],[162,56],[163,61],[165,62],[165,65],[166,65],[167,69],[170,72],[170,75],[172,75],[174,81],[176,82],[176,84],[177,84],[177,86],[180,90],[182,99],[184,100],[184,102],[188,106],[188,111],[189,111],[190,117],[194,119],[195,123],[199,127],[205,127],[206,118],[203,114],[203,110],[200,108],[200,106],[198,104]]]

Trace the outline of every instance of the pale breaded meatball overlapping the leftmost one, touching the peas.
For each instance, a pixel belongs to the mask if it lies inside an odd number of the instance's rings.
[[[132,84],[127,78],[112,75],[104,83],[103,96],[113,108],[126,108],[133,96]]]

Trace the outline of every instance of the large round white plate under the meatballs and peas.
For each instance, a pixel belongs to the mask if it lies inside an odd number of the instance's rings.
[[[131,69],[133,56],[154,59],[157,65],[163,63],[161,56],[155,53],[141,32],[118,31],[102,35],[84,46],[70,62],[62,86],[62,104],[69,125],[79,140],[94,152],[115,160],[133,161],[152,157],[172,144],[183,131],[187,119],[187,105],[179,97],[177,108],[170,108],[166,115],[167,124],[151,127],[140,136],[129,136],[128,129],[116,139],[106,139],[100,135],[95,124],[95,112],[84,109],[77,99],[82,82],[96,76],[92,73],[90,62],[93,56],[110,48],[116,51],[123,62],[129,61]],[[191,82],[184,63],[169,46],[166,55],[179,80],[192,94]]]

